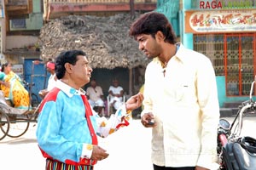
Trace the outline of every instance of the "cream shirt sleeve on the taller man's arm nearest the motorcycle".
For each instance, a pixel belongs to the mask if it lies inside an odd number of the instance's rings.
[[[197,71],[197,95],[202,114],[201,155],[197,164],[210,168],[217,161],[219,105],[216,77],[210,60]]]

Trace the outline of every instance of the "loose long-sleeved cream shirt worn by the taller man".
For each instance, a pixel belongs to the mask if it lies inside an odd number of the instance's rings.
[[[147,66],[144,113],[152,112],[152,161],[166,167],[211,168],[217,158],[218,93],[210,59],[177,43],[166,65]]]

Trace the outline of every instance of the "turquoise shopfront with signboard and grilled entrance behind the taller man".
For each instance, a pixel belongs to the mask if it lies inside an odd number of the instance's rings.
[[[256,1],[183,0],[179,16],[183,44],[212,60],[219,105],[248,99],[256,74]]]

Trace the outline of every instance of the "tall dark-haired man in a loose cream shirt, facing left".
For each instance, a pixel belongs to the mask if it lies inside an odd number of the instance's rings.
[[[216,166],[219,105],[211,60],[176,42],[164,14],[142,14],[130,28],[147,65],[141,122],[152,127],[154,170]]]

